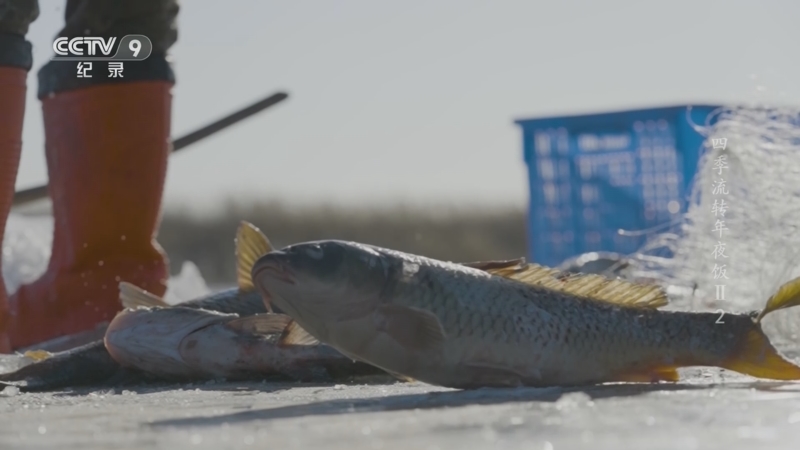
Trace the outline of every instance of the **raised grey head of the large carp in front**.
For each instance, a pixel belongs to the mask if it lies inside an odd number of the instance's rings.
[[[252,275],[265,301],[325,341],[332,324],[374,311],[396,265],[390,255],[368,245],[314,241],[267,253]]]

